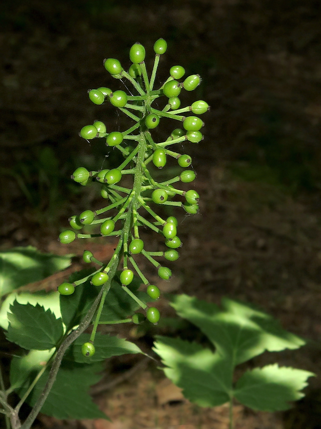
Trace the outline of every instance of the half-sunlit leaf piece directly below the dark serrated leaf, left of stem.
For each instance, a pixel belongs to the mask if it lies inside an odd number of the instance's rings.
[[[25,356],[13,357],[10,363],[10,388],[28,388],[54,351],[55,349],[30,350]]]

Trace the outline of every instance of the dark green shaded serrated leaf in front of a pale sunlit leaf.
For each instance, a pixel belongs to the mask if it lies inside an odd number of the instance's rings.
[[[61,319],[39,304],[20,304],[14,301],[8,313],[7,339],[28,350],[53,348],[63,335]]]

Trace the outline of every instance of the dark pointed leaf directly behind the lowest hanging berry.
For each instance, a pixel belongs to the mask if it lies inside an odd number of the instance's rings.
[[[71,359],[75,362],[91,364],[93,362],[100,362],[104,359],[111,358],[112,356],[142,353],[140,348],[130,341],[97,332],[94,342],[96,349],[95,354],[91,357],[85,357],[81,353],[81,346],[89,340],[90,334],[81,334],[69,347],[64,359]]]

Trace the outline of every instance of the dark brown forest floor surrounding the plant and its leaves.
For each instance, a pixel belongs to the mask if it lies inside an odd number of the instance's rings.
[[[108,167],[116,155],[105,158],[104,147],[84,145],[78,132],[97,118],[107,128],[116,120],[120,129],[124,120],[108,106],[101,113],[86,91],[115,85],[103,58],[127,65],[132,43],[140,41],[151,53],[163,37],[168,52],[160,82],[176,64],[187,74],[199,73],[203,81],[191,100],[204,99],[211,110],[203,117],[205,139],[182,148],[198,173],[200,213],[175,213],[181,257],[171,266],[172,280],[160,287],[216,303],[228,296],[256,304],[307,339],[300,350],[249,363],[278,362],[316,373],[306,398],[274,414],[236,404],[236,428],[320,428],[319,1],[4,1],[0,22],[1,248],[33,245],[82,254],[82,242],[61,246],[57,235],[71,214],[100,201],[93,188],[70,184],[70,173],[79,165]],[[89,245],[108,258],[109,244]],[[73,268],[79,265],[76,258]],[[164,316],[173,315],[165,299],[159,306]],[[150,337],[133,330],[120,334],[151,345]],[[134,372],[125,379],[130,368]],[[35,428],[228,427],[227,408],[189,404],[152,363],[125,357],[106,371],[114,385],[95,398],[112,423],[40,415]]]

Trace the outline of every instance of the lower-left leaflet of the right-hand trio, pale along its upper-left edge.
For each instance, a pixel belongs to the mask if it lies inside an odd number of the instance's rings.
[[[230,400],[232,373],[218,353],[200,344],[156,336],[154,351],[161,357],[166,376],[183,395],[200,407],[216,407]]]

